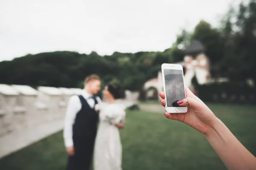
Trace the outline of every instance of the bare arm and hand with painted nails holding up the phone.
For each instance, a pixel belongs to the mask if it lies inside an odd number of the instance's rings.
[[[166,105],[165,94],[160,93],[161,104]],[[187,106],[187,113],[165,113],[166,118],[186,123],[204,133],[212,148],[229,170],[256,170],[256,157],[253,156],[230,130],[189,88],[186,88],[186,99],[178,105]]]

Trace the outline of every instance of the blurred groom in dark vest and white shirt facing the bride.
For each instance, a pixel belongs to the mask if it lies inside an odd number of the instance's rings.
[[[95,96],[100,90],[100,78],[90,75],[84,80],[84,90],[72,96],[67,105],[64,123],[64,143],[67,148],[67,170],[89,170],[93,155],[99,115],[95,105],[101,102]]]

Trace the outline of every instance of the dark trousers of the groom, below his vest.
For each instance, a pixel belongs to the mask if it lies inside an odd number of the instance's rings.
[[[68,156],[67,170],[90,170],[95,137],[74,138],[75,155]]]

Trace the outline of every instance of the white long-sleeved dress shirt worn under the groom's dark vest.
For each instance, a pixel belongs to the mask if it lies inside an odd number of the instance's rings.
[[[83,90],[81,95],[84,97],[84,99],[87,101],[87,103],[90,105],[91,108],[94,107],[95,102],[93,98],[90,98],[92,96],[91,94],[88,94],[87,91]],[[97,96],[96,100],[98,103],[101,102],[101,99]],[[73,146],[73,124],[76,119],[76,114],[81,110],[82,105],[79,99],[79,96],[71,96],[70,100],[67,105],[67,111],[64,121],[64,131],[63,131],[63,137],[64,137],[64,143],[66,147],[72,147]]]

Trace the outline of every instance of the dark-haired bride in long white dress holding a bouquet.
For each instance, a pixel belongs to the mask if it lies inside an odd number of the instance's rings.
[[[122,144],[119,128],[125,126],[125,105],[117,102],[121,98],[120,87],[114,83],[103,91],[106,103],[99,105],[99,127],[95,141],[94,170],[122,170]]]

